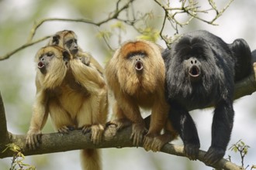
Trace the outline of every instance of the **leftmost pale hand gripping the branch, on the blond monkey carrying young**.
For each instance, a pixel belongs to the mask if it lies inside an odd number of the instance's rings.
[[[35,150],[41,143],[42,132],[38,129],[29,129],[26,136],[26,146]]]

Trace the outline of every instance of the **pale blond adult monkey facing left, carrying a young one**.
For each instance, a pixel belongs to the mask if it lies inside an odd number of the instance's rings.
[[[60,46],[46,46],[38,51],[35,62],[36,101],[26,144],[40,145],[41,130],[50,114],[54,128],[61,133],[81,129],[92,132],[91,140],[102,139],[108,114],[106,83],[95,68],[85,66]],[[99,150],[81,151],[84,169],[101,169]]]

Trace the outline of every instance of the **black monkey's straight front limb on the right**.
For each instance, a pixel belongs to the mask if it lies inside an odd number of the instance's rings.
[[[213,115],[212,144],[206,152],[206,163],[213,165],[223,158],[233,128],[234,110],[232,102],[221,101]]]

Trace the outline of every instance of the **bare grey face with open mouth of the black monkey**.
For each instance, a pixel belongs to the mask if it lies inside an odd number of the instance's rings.
[[[199,59],[190,57],[184,60],[185,68],[188,72],[189,80],[191,82],[197,82],[202,77],[202,67]]]

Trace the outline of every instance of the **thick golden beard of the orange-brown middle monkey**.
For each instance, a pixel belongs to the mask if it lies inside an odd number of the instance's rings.
[[[119,68],[116,73],[120,87],[123,92],[131,96],[154,93],[161,88],[160,86],[164,87],[164,62],[148,56],[147,59],[142,60],[142,63],[144,69],[140,70],[140,73],[137,73],[135,63],[129,59],[121,59],[117,65]]]

